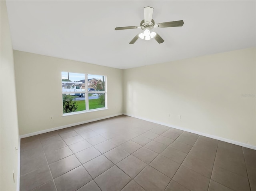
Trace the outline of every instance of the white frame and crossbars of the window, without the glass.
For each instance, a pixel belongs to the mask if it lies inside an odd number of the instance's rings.
[[[66,72],[66,71],[61,71],[61,72]],[[69,73],[84,74],[84,73],[78,73],[78,72],[69,72]],[[88,91],[88,75],[104,76],[105,91]],[[85,94],[85,110],[83,110],[83,111],[74,111],[74,112],[70,112],[70,113],[63,113],[63,108],[62,108],[62,116],[74,115],[74,114],[78,114],[78,113],[88,113],[88,112],[92,112],[92,111],[99,111],[99,110],[103,110],[103,109],[108,109],[108,107],[107,107],[107,76],[100,75],[100,74],[84,74],[84,78],[85,78],[84,79],[85,92],[80,92],[79,91],[79,92],[76,92],[76,93],[77,94]],[[100,93],[104,93],[104,95],[105,95],[105,107],[100,107],[100,108],[96,108],[96,109],[89,109],[89,96],[88,95],[89,94],[100,94]],[[68,94],[68,92],[62,92],[62,94]]]

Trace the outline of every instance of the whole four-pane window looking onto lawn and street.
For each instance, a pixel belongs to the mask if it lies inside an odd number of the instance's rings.
[[[63,113],[106,108],[106,76],[62,72]]]

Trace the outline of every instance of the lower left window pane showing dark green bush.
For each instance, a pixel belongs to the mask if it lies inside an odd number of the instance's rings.
[[[63,113],[71,113],[75,111],[84,111],[85,97],[71,96],[62,94]]]

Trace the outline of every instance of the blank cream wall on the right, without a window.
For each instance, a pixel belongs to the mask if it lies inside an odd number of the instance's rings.
[[[249,48],[124,70],[124,113],[255,146],[255,56]]]

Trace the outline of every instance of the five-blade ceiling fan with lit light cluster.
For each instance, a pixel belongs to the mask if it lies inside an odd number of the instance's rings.
[[[153,16],[153,10],[152,7],[144,7],[144,20],[140,22],[140,26],[124,26],[124,27],[116,27],[115,30],[124,30],[124,29],[135,29],[140,28],[144,30],[143,33],[137,34],[129,44],[134,44],[138,38],[144,39],[144,40],[150,40],[152,38],[156,39],[158,43],[164,42],[164,39],[162,39],[159,34],[156,32],[150,32],[153,28],[166,28],[166,27],[176,27],[176,26],[183,26],[184,22],[183,20],[178,21],[170,21],[170,22],[162,22],[155,24],[154,20],[152,19]]]

